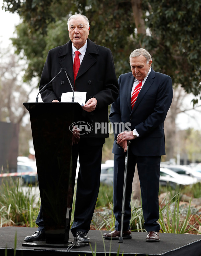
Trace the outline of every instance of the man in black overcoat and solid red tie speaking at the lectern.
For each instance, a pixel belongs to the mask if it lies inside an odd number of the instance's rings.
[[[85,120],[81,121],[87,121],[93,127],[96,124],[107,124],[108,105],[117,99],[119,91],[112,52],[104,46],[96,45],[88,38],[90,26],[88,18],[84,15],[72,15],[68,19],[68,31],[70,41],[51,49],[48,53],[39,90],[64,68],[74,90],[86,92],[86,103],[82,107]],[[57,103],[61,101],[62,93],[71,91],[65,72],[61,72],[50,86],[41,92],[41,98],[44,102]],[[95,130],[97,132],[94,132]],[[74,176],[78,154],[80,168],[71,232],[77,242],[90,242],[87,233],[90,230],[99,192],[102,147],[106,137],[109,137],[108,132],[102,133],[101,129],[93,129],[91,133],[80,135],[78,144],[78,138],[74,141]],[[25,237],[25,241],[45,239],[42,210],[36,224],[37,231],[32,236]]]

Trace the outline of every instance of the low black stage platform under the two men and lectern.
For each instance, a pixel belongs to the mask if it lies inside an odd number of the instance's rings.
[[[96,251],[94,255],[115,256],[118,250],[119,256],[201,256],[201,235],[160,233],[160,242],[147,243],[145,242],[146,233],[132,232],[132,239],[124,239],[124,243],[118,243],[119,240],[104,239],[103,241],[103,233],[109,233],[109,231],[90,230],[88,236],[91,239],[92,249],[89,245],[71,248],[70,251],[69,248],[61,247],[22,246],[25,243],[25,236],[32,235],[35,231],[36,228],[0,228],[0,256],[92,256],[92,251]],[[17,235],[16,249],[15,234]],[[69,241],[75,242],[71,233]]]

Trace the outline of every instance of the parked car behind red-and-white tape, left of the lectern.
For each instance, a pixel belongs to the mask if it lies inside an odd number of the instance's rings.
[[[24,184],[38,184],[38,175],[36,169],[36,162],[17,162],[17,172],[19,173],[20,185]],[[27,173],[27,174],[21,174]]]

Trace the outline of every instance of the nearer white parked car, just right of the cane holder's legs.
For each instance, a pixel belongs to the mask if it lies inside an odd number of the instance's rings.
[[[178,174],[168,168],[160,168],[160,185],[171,186],[173,189],[176,186],[192,185],[197,183],[197,178],[193,178],[187,175]]]

